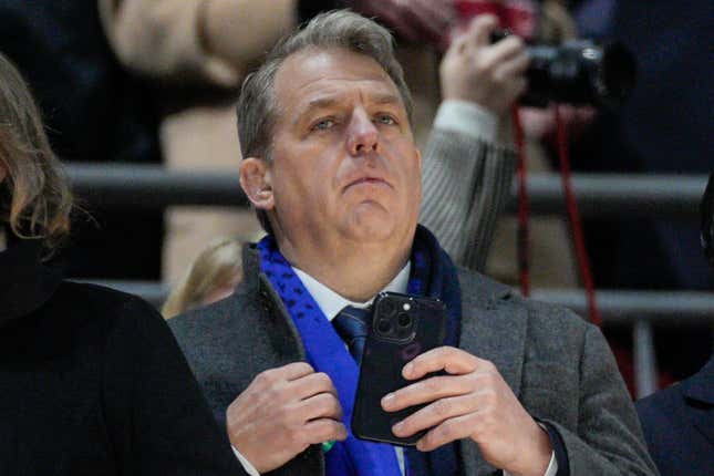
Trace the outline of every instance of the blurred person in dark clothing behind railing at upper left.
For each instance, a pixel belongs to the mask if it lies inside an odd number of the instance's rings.
[[[161,162],[153,92],[116,61],[95,2],[0,0],[0,52],[32,86],[63,161]],[[68,276],[158,279],[162,213],[80,198],[93,219],[77,220],[59,251]]]

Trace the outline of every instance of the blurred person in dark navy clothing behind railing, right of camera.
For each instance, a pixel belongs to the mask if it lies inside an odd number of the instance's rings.
[[[707,174],[712,168],[714,2],[573,1],[579,28],[622,40],[638,61],[638,84],[619,111],[601,114],[571,151],[573,169],[619,174]],[[700,230],[677,217],[583,223],[596,283],[609,289],[711,290],[714,270],[693,246]],[[621,335],[631,346],[630,335]],[[705,325],[655,328],[661,384],[708,360]],[[686,349],[686,352],[682,352]]]

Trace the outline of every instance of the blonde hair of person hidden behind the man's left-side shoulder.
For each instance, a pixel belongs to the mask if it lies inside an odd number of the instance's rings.
[[[209,244],[166,299],[162,308],[164,318],[170,319],[200,306],[211,291],[240,278],[242,245],[239,238],[221,238]]]

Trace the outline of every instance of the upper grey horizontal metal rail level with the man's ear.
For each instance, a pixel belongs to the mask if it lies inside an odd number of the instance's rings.
[[[92,204],[114,208],[161,209],[172,205],[247,206],[238,172],[168,170],[156,165],[71,164],[77,194]],[[704,175],[578,175],[573,188],[583,216],[646,216],[693,219],[707,177]],[[510,211],[516,209],[516,186]],[[528,177],[534,214],[565,209],[560,177]]]

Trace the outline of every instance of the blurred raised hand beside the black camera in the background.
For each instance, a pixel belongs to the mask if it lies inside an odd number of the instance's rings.
[[[516,35],[491,44],[490,34],[497,25],[493,15],[476,17],[452,42],[439,74],[444,100],[474,102],[500,117],[526,91],[529,58]]]

